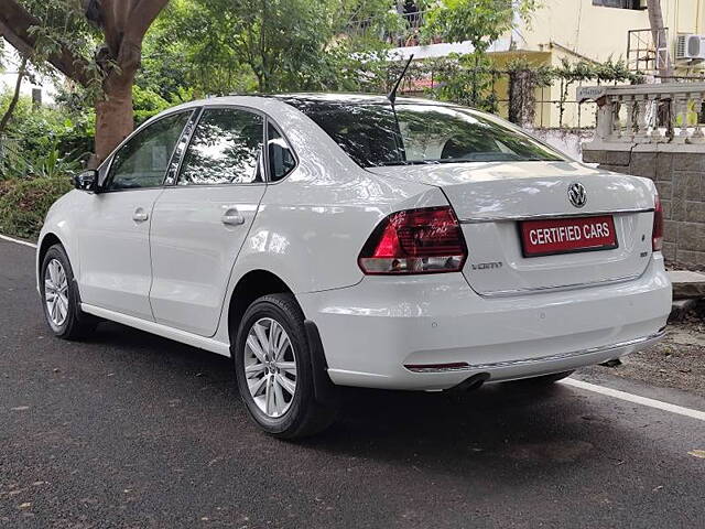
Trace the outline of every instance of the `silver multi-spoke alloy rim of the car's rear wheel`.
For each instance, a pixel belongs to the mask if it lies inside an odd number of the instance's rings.
[[[250,396],[260,411],[273,419],[286,413],[296,392],[296,354],[284,327],[271,317],[254,322],[243,364]]]

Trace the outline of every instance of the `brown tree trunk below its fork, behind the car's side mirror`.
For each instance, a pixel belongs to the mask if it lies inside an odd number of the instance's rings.
[[[96,162],[102,162],[134,128],[132,83],[134,73],[108,78],[105,97],[96,102]]]

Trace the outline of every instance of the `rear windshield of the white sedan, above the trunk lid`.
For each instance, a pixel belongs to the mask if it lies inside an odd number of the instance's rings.
[[[360,166],[556,161],[564,156],[500,119],[463,107],[288,100]]]

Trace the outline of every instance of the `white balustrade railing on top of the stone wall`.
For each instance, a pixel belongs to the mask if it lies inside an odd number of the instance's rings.
[[[705,143],[705,83],[581,87],[597,101],[595,139],[629,143]]]

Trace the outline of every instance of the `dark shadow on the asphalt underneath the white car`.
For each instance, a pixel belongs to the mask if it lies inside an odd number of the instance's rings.
[[[101,324],[89,344],[105,346],[104,354],[116,355],[116,361],[130,363],[126,369],[134,370],[133,378],[150,376],[156,379],[149,384],[175,385],[165,393],[192,384],[212,389],[194,395],[198,407],[227,428],[218,438],[256,435],[263,447],[283,443],[245,420],[229,358],[115,323]],[[498,460],[547,468],[597,452],[605,462],[618,462],[606,452],[612,442],[615,447],[625,443],[625,432],[611,431],[610,418],[600,417],[586,397],[562,385],[494,384],[466,393],[341,388],[340,399],[340,417],[330,429],[286,443],[289,449],[411,465],[423,461],[455,474],[464,472],[459,461],[471,461],[481,472],[492,472]]]

